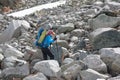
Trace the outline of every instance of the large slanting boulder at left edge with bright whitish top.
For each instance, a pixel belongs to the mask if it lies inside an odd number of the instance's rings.
[[[7,29],[0,34],[0,43],[5,43],[12,38],[18,38],[22,34],[22,26],[25,29],[30,28],[30,25],[27,21],[12,20],[12,22],[10,22],[10,24],[8,25]]]

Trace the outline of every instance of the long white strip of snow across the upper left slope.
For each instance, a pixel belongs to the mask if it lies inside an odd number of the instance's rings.
[[[65,3],[66,3],[66,1],[62,0],[62,1],[54,2],[54,3],[38,5],[38,6],[35,6],[35,7],[32,7],[32,8],[29,8],[29,9],[25,9],[25,10],[22,10],[22,11],[7,14],[7,16],[24,17],[24,16],[30,15],[30,14],[36,12],[36,11],[40,11],[42,9],[54,8],[54,7],[57,7],[59,5],[63,5]]]

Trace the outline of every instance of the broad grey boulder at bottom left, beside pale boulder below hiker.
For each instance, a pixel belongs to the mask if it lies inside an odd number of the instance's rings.
[[[10,68],[3,69],[2,77],[5,80],[10,80],[9,78],[12,78],[12,77],[23,78],[29,75],[29,73],[30,73],[29,64],[26,63],[26,64],[19,65],[16,67],[10,67]]]

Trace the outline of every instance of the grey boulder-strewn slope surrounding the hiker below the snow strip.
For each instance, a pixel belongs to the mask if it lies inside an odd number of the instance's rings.
[[[67,0],[24,18],[1,14],[0,79],[119,80],[119,8],[119,1]],[[35,36],[51,26],[58,38],[51,47],[55,60],[43,60]]]

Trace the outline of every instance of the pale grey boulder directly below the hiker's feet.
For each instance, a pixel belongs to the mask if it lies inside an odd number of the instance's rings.
[[[56,60],[37,62],[33,68],[49,77],[58,77],[61,74],[61,68]]]

